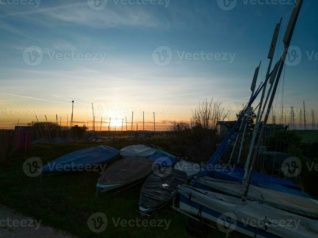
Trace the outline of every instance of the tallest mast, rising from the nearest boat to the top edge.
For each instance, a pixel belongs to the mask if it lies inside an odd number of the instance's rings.
[[[278,83],[279,83],[279,79],[280,79],[281,73],[283,71],[283,67],[284,67],[284,64],[285,64],[285,59],[286,59],[287,52],[288,52],[288,47],[290,45],[290,41],[291,41],[293,33],[294,33],[294,29],[295,29],[295,25],[296,25],[296,22],[297,22],[298,15],[299,15],[299,11],[301,9],[301,4],[302,4],[302,0],[298,0],[295,3],[293,12],[291,14],[291,17],[290,17],[288,25],[287,25],[285,36],[283,38],[283,43],[285,45],[285,50],[283,52],[282,58],[279,61],[280,68],[279,68],[279,71],[278,71],[278,74],[277,74],[277,77],[276,77],[275,85],[273,87],[273,92],[272,92],[269,104],[268,104],[268,107],[267,107],[267,113],[265,114],[264,123],[263,123],[262,129],[261,129],[260,135],[259,135],[259,140],[257,142],[257,146],[256,146],[255,154],[254,154],[254,157],[253,157],[251,170],[250,170],[250,173],[248,175],[248,179],[247,179],[246,186],[245,186],[245,189],[244,189],[244,193],[243,193],[243,196],[242,196],[243,200],[246,200],[246,196],[247,196],[247,193],[248,193],[248,188],[250,186],[250,182],[251,182],[251,179],[252,179],[252,174],[253,174],[253,171],[254,171],[254,168],[255,168],[255,165],[256,165],[256,162],[257,162],[259,147],[260,147],[260,144],[262,142],[261,139],[262,139],[262,137],[264,135],[266,123],[267,123],[268,116],[269,116],[269,113],[270,113],[270,109],[271,109],[271,106],[272,106],[273,101],[274,101],[274,97],[275,97],[275,94],[276,94],[276,89],[277,89],[277,86],[278,86]]]

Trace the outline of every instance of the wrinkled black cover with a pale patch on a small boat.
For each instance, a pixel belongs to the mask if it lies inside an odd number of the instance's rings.
[[[142,186],[139,206],[152,209],[169,202],[172,198],[172,192],[180,184],[185,184],[187,179],[187,174],[177,169],[167,167],[156,171]]]

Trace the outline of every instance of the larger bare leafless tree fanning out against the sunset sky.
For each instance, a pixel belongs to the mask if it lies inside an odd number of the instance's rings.
[[[217,122],[223,121],[229,111],[225,112],[225,107],[222,106],[222,101],[210,102],[207,99],[199,102],[197,108],[192,110],[191,127],[200,127],[203,129],[217,129]]]

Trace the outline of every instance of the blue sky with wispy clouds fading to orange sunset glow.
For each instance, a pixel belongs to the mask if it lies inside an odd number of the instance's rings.
[[[280,58],[293,7],[294,0],[1,0],[0,128],[35,116],[56,121],[56,114],[66,125],[71,100],[76,124],[92,126],[93,103],[102,129],[109,118],[124,130],[127,120],[129,129],[134,112],[134,129],[144,116],[153,130],[155,113],[156,130],[165,130],[190,121],[191,110],[211,98],[233,120],[260,61],[257,87],[266,76],[282,17],[273,65]],[[273,106],[279,113],[283,92],[287,123],[294,106],[299,124],[303,101],[310,122],[311,109],[318,115],[317,10],[317,1],[303,2]]]

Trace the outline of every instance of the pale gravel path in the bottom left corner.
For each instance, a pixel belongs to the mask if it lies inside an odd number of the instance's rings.
[[[0,237],[71,238],[74,236],[43,226],[41,220],[34,220],[31,217],[17,214],[13,209],[0,205]]]

